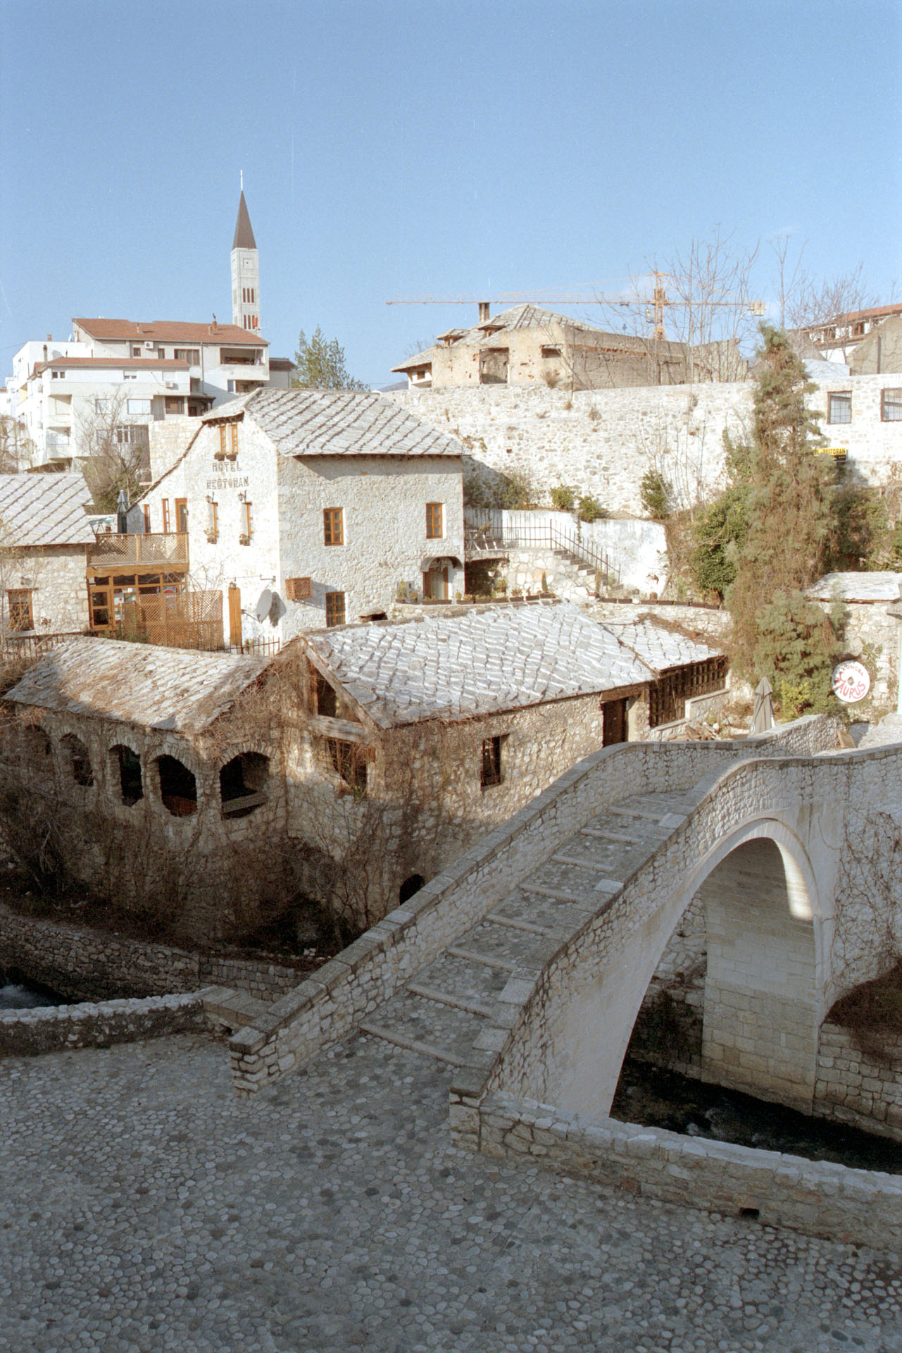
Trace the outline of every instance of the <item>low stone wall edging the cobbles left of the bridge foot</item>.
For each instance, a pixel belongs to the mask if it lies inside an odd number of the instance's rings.
[[[207,1027],[201,992],[0,1011],[0,1057],[70,1053]]]

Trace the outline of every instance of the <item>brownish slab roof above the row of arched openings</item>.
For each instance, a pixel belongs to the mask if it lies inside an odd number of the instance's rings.
[[[268,659],[116,639],[69,639],[7,694],[18,705],[139,728],[199,733],[234,705]]]

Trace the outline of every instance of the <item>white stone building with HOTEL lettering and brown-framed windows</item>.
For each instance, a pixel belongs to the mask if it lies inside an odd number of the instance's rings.
[[[233,644],[462,591],[461,446],[381,395],[261,390],[154,440],[147,530],[187,533]]]

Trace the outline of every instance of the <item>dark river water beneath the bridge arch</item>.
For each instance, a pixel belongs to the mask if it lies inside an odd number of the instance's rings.
[[[611,1105],[623,1123],[665,1127],[687,1137],[736,1142],[767,1151],[836,1161],[861,1170],[902,1174],[902,1143],[797,1114],[717,1085],[627,1059]]]

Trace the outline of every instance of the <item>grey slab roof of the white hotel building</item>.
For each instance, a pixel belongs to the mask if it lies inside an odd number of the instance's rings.
[[[384,395],[352,390],[262,390],[214,409],[243,409],[283,456],[462,456],[461,444]]]

